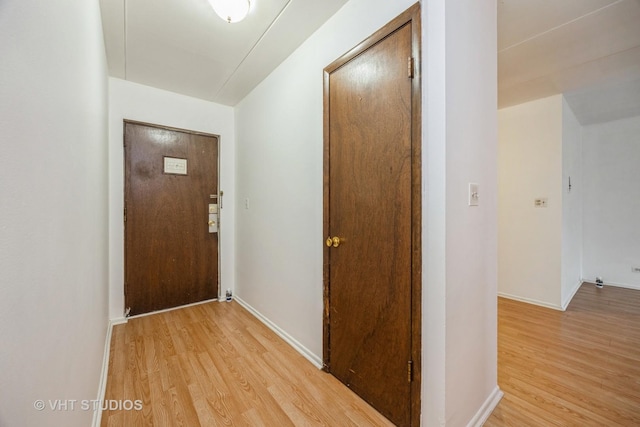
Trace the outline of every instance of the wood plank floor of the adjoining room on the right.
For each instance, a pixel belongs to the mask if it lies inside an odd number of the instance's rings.
[[[561,312],[499,298],[485,426],[640,426],[640,291],[583,284]]]

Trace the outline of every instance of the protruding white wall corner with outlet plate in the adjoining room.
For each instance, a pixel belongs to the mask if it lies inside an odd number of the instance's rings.
[[[499,293],[564,310],[582,283],[582,126],[563,95],[498,117]]]

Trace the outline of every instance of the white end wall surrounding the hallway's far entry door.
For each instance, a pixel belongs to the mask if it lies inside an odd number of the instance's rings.
[[[233,109],[201,99],[109,78],[109,316],[124,311],[123,120],[136,120],[220,136],[220,289],[234,288],[235,130]]]

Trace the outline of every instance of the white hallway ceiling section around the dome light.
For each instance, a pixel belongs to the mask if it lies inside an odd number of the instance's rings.
[[[229,24],[207,0],[100,0],[109,75],[235,105],[347,0],[251,0]]]

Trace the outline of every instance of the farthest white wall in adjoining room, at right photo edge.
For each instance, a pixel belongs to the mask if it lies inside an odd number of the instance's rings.
[[[584,128],[585,280],[640,289],[640,117]]]

